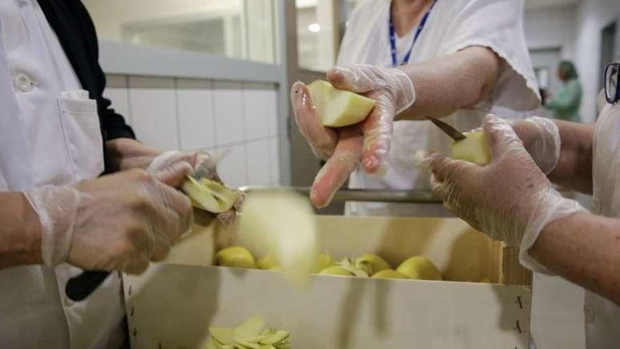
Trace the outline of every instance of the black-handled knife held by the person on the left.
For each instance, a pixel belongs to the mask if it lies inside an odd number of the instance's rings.
[[[222,149],[221,151],[213,154],[213,161],[205,161],[200,164],[192,177],[199,180],[203,177],[211,177],[214,173],[213,169],[217,168],[217,164],[230,154],[230,148]],[[213,166],[213,163],[216,164]],[[79,302],[85,300],[94,290],[97,290],[99,285],[108,277],[110,271],[83,271],[79,276],[70,278],[65,286],[65,294],[70,300]]]

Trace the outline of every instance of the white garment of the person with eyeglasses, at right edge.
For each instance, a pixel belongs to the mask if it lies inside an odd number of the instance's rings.
[[[607,104],[594,135],[595,214],[620,218],[620,104]],[[619,251],[620,253],[620,251]],[[585,291],[585,343],[588,349],[620,346],[620,307]]]

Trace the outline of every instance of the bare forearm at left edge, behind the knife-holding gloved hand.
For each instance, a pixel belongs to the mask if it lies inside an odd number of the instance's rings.
[[[41,224],[21,192],[0,193],[0,269],[40,264]]]

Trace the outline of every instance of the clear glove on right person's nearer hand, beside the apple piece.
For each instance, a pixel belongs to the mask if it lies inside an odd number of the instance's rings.
[[[488,116],[483,129],[492,152],[490,164],[479,166],[432,154],[426,164],[433,173],[433,192],[473,228],[520,247],[519,259],[525,267],[544,272],[528,253],[540,231],[585,209],[553,188],[507,121]]]

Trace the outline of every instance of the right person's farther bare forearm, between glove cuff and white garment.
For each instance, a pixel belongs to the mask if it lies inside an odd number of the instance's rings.
[[[565,188],[592,192],[594,126],[555,121],[559,128],[560,157],[549,179]]]

